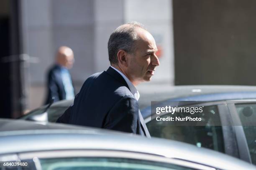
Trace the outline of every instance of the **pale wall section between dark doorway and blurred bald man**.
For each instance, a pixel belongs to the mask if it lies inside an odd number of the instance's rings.
[[[52,2],[51,0],[23,0],[21,24],[23,52],[37,57],[25,70],[27,107],[42,105],[45,95],[45,71],[54,62]],[[33,88],[34,87],[34,88]]]

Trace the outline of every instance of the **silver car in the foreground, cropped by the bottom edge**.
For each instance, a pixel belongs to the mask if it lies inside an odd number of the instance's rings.
[[[1,170],[255,170],[171,140],[64,124],[0,119]]]

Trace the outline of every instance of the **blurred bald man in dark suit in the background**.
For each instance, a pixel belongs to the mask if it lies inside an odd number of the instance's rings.
[[[45,104],[59,100],[74,98],[74,87],[69,73],[74,63],[74,53],[71,48],[62,46],[56,55],[56,64],[50,68],[47,74],[47,97]]]

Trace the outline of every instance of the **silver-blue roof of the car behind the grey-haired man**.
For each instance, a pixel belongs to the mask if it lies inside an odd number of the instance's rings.
[[[256,86],[242,85],[149,85],[138,88],[141,108],[151,101],[218,101],[255,99]]]

